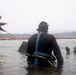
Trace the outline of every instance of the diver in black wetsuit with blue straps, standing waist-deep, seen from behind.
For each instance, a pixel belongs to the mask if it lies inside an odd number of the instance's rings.
[[[63,56],[56,39],[52,34],[48,34],[47,22],[42,21],[37,31],[38,33],[33,34],[28,40],[28,65],[50,66],[48,62],[55,61],[56,59],[57,65],[63,65]]]

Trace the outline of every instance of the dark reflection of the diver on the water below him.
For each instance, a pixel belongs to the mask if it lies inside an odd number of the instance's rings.
[[[26,75],[61,75],[60,71],[56,71],[50,68],[29,68],[27,69],[27,72],[28,73]]]

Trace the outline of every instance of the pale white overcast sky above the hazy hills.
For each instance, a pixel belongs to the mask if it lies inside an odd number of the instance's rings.
[[[0,22],[9,33],[36,32],[41,21],[50,31],[76,31],[76,0],[0,0]]]

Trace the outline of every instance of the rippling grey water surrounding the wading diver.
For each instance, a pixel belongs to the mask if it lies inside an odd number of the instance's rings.
[[[64,65],[58,72],[26,69],[27,57],[18,52],[23,41],[26,40],[0,40],[0,75],[76,75],[76,55],[73,53],[76,39],[57,39],[64,58]],[[66,46],[70,48],[69,55],[66,54]]]

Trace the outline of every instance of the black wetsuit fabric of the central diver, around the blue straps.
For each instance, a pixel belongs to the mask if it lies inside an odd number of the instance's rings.
[[[28,40],[27,53],[33,54],[35,52],[36,38],[38,34],[32,35]],[[39,38],[38,51],[46,54],[52,54],[52,51],[58,61],[58,64],[63,63],[63,57],[61,55],[60,48],[56,42],[56,39],[53,35],[42,33]],[[51,59],[51,58],[50,58]],[[28,61],[31,61],[34,64],[34,58],[28,56]],[[47,61],[39,59],[40,65],[46,65]]]

